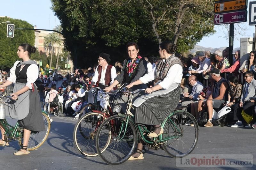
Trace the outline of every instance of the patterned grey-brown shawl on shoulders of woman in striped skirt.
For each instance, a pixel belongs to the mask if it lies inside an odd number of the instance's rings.
[[[171,55],[165,62],[164,60],[161,60],[156,67],[156,78],[158,80],[163,80],[167,75],[170,67],[172,67],[172,65],[174,64],[180,64],[181,67],[183,67],[183,64],[181,63],[180,59],[176,57],[174,54]]]

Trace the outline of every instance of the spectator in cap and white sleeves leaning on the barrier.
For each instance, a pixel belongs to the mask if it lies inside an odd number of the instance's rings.
[[[210,59],[209,58],[206,58],[206,54],[204,52],[200,52],[198,55],[198,60],[200,61],[199,62],[199,67],[196,71],[194,70],[191,70],[191,71],[188,71],[189,74],[195,74],[195,73],[203,73],[209,66],[210,66]],[[194,59],[192,59],[194,60]],[[192,61],[191,60],[191,61]]]

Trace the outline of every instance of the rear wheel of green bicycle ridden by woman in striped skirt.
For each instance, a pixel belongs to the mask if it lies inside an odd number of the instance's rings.
[[[194,124],[194,126],[190,126]],[[198,140],[198,126],[193,115],[184,111],[175,111],[162,126],[164,127],[162,144],[164,151],[173,158],[181,158],[193,151]]]

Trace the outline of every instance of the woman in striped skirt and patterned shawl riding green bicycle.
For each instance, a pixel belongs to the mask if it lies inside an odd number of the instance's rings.
[[[148,137],[157,137],[164,133],[160,123],[179,103],[183,65],[174,55],[176,49],[177,46],[172,42],[162,42],[159,46],[159,55],[162,60],[157,64],[154,72],[127,85],[127,88],[132,88],[134,85],[146,84],[154,79],[159,80],[154,87],[145,90],[148,93],[144,95],[145,97],[141,96],[133,102],[135,123],[155,127],[154,131],[148,133]],[[128,160],[144,159],[142,148],[143,141],[140,141],[137,151]]]

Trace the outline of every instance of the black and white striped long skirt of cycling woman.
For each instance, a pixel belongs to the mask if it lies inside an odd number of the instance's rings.
[[[174,90],[144,101],[135,107],[135,123],[140,125],[157,125],[178,106],[180,100],[180,85]]]

